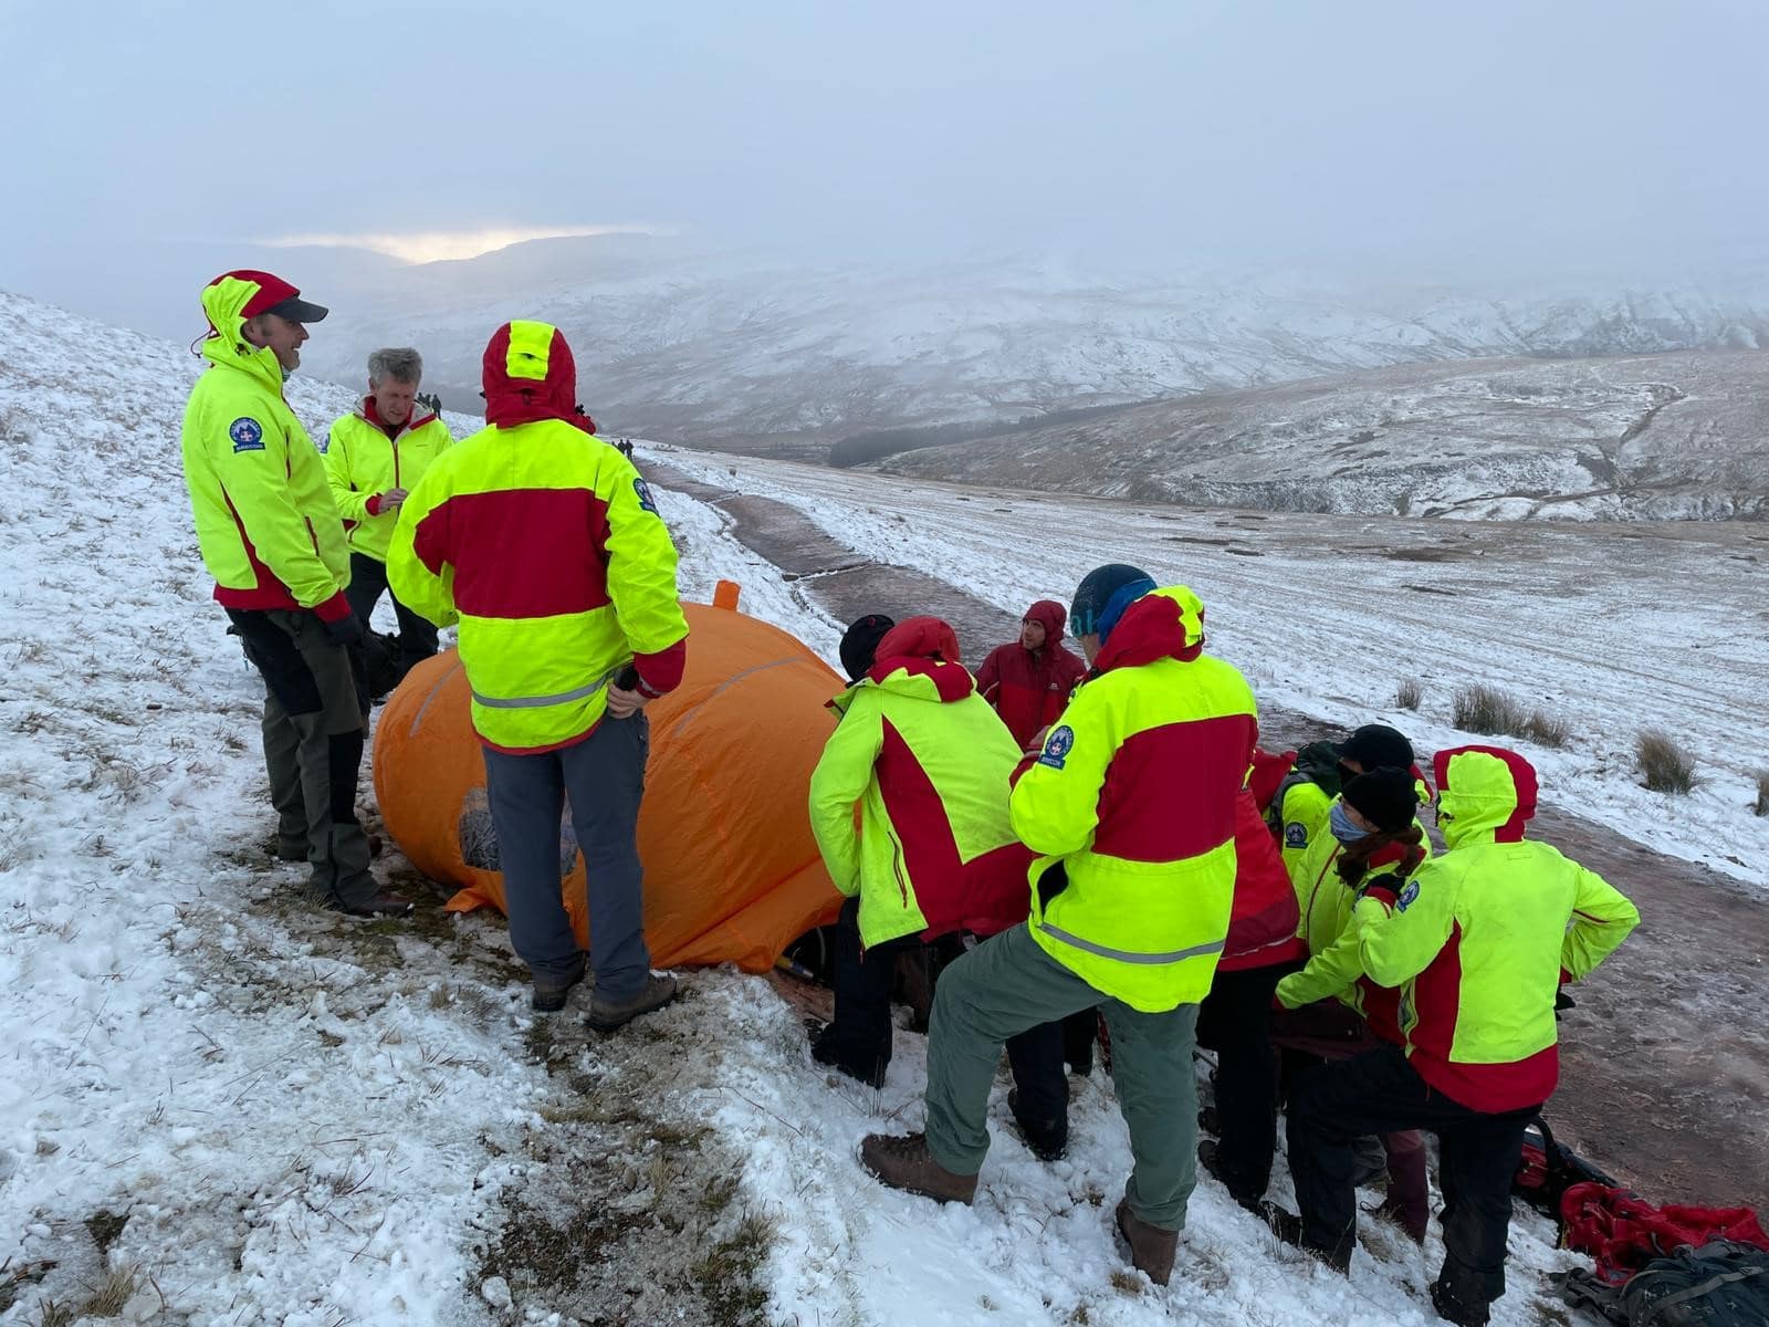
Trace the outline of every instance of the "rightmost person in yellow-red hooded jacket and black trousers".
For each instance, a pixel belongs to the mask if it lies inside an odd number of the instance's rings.
[[[1357,1240],[1352,1141],[1431,1129],[1444,1182],[1444,1269],[1431,1302],[1479,1327],[1505,1293],[1523,1129],[1560,1074],[1560,982],[1596,968],[1640,913],[1596,872],[1525,842],[1535,770],[1521,756],[1444,750],[1435,773],[1449,851],[1412,879],[1375,878],[1353,908],[1364,971],[1403,987],[1406,1046],[1325,1065],[1298,1085],[1290,1170],[1302,1217],[1277,1230],[1346,1270]]]

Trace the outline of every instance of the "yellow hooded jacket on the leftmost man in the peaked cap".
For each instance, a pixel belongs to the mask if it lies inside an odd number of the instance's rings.
[[[320,453],[283,400],[283,368],[246,341],[242,311],[257,294],[257,281],[237,276],[203,290],[218,334],[203,341],[211,366],[179,441],[196,543],[219,603],[336,621],[350,612],[350,554]]]

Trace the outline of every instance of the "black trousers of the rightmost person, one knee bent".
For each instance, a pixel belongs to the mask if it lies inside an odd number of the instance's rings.
[[[1488,1115],[1435,1092],[1399,1046],[1309,1070],[1290,1097],[1290,1173],[1302,1242],[1346,1260],[1357,1239],[1352,1145],[1364,1134],[1429,1129],[1444,1185],[1444,1270],[1438,1281],[1468,1306],[1505,1293],[1511,1182],[1523,1129],[1539,1106]]]

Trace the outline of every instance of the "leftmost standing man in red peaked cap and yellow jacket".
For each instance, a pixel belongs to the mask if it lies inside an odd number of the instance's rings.
[[[214,598],[264,674],[264,763],[278,855],[308,862],[318,902],[359,917],[410,911],[368,869],[356,819],[363,711],[348,648],[350,557],[325,467],[283,400],[308,322],[325,310],[269,272],[203,288],[209,370],[184,409],[184,483]]]

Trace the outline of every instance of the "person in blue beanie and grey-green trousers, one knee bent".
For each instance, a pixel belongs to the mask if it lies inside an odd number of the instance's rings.
[[[1192,1032],[1228,934],[1235,798],[1258,736],[1247,681],[1203,653],[1203,605],[1132,566],[1070,609],[1090,679],[1014,787],[1031,918],[946,968],[927,1042],[927,1134],[874,1134],[867,1170],[969,1201],[1008,1037],[1102,1007],[1136,1170],[1116,1208],[1132,1263],[1173,1274],[1196,1184]]]

